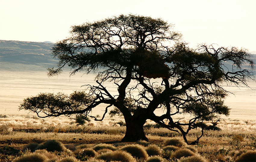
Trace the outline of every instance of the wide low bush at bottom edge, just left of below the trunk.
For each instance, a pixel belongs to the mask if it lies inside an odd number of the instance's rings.
[[[113,151],[100,154],[96,159],[101,159],[105,161],[126,161],[126,162],[136,162],[136,160],[127,152],[124,151]]]

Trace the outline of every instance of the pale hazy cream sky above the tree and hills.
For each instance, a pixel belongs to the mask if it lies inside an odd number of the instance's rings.
[[[72,25],[129,13],[175,24],[190,47],[256,51],[256,0],[0,0],[0,39],[56,42]]]

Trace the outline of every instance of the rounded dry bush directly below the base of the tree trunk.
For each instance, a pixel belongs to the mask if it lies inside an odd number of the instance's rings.
[[[133,157],[138,159],[148,158],[147,151],[141,145],[127,145],[122,147],[121,150],[130,153]]]

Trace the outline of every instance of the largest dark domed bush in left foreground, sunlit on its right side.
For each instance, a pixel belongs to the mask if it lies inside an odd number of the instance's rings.
[[[66,151],[67,148],[61,143],[56,140],[48,140],[43,144],[38,145],[36,150],[39,149],[46,149],[47,151],[54,152],[54,151]]]

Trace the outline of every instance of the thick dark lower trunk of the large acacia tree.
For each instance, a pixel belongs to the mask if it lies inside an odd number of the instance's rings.
[[[135,142],[139,140],[148,141],[145,136],[143,125],[146,122],[145,114],[142,112],[135,112],[130,120],[125,120],[126,133],[123,137],[123,142]]]

